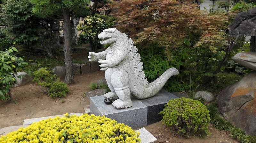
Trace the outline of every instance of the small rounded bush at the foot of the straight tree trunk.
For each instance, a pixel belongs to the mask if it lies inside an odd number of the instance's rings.
[[[68,94],[68,86],[65,82],[54,82],[48,91],[48,94],[52,98],[65,97]]]

